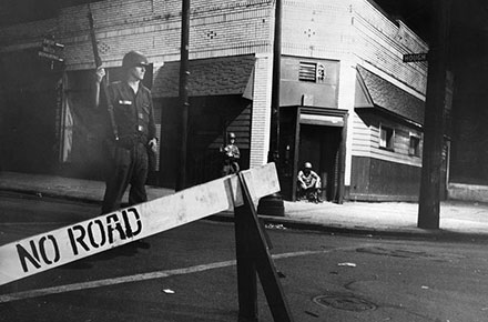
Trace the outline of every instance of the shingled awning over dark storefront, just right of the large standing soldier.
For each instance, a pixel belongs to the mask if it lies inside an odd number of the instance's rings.
[[[254,61],[252,54],[190,60],[189,95],[248,95]],[[154,78],[153,97],[176,98],[179,88],[180,61],[165,62]]]

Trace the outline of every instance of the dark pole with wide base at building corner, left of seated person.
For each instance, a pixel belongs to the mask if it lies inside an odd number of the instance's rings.
[[[275,0],[275,28],[273,42],[273,83],[271,97],[271,135],[267,161],[275,162],[278,174],[281,173],[279,161],[279,82],[282,80],[282,12],[283,1]],[[275,193],[262,198],[257,205],[257,212],[272,215],[285,215],[283,197]]]

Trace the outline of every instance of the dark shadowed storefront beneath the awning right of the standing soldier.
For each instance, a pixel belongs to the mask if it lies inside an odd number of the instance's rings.
[[[186,187],[221,175],[223,157],[220,148],[228,132],[237,137],[241,170],[250,167],[252,102],[242,95],[191,97],[189,115]],[[162,101],[160,184],[173,188],[176,182],[181,121],[177,99]]]

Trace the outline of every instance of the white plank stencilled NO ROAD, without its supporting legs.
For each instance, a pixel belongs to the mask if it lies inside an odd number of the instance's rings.
[[[279,191],[274,163],[243,171],[252,199]],[[237,175],[0,246],[0,285],[243,204]]]

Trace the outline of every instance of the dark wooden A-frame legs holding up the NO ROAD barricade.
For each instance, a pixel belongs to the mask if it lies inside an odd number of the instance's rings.
[[[266,233],[257,218],[245,175],[238,173],[238,179],[243,205],[235,208],[234,213],[240,321],[257,321],[257,272],[274,321],[292,322],[293,318],[268,251]]]

